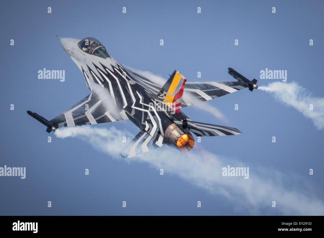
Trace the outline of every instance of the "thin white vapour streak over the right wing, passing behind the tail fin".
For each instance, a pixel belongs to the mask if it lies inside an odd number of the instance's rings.
[[[140,75],[144,76],[145,78],[149,79],[150,81],[152,81],[153,83],[155,83],[156,85],[158,85],[160,87],[162,87],[165,84],[165,82],[167,81],[167,79],[165,79],[161,76],[155,75],[149,71],[141,71],[141,70],[134,69],[134,68],[128,67],[128,66],[124,66],[124,67],[126,67],[127,69],[130,69],[131,71],[135,72],[136,74],[140,74]],[[186,92],[184,92],[183,97],[185,99],[186,97],[190,97],[190,96],[187,95]],[[197,109],[201,109],[205,112],[208,112],[208,113],[212,114],[214,117],[228,123],[228,120],[217,108],[209,105],[208,103],[203,103],[203,102],[199,101],[198,99],[196,101],[194,101],[194,99],[192,97],[190,98],[190,100],[191,100],[191,102],[194,103],[194,105],[192,105],[193,107],[195,107]]]

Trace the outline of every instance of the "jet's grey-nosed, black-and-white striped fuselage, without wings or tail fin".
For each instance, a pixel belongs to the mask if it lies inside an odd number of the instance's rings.
[[[122,119],[130,119],[141,130],[150,129],[152,137],[156,137],[158,132],[159,136],[156,140],[162,142],[164,139],[171,146],[179,147],[177,141],[184,134],[190,137],[185,140],[193,140],[185,124],[181,127],[174,123],[175,119],[186,120],[187,117],[181,111],[175,114],[172,109],[156,110],[154,97],[158,95],[152,95],[152,91],[147,86],[140,85],[133,74],[113,57],[109,55],[105,58],[87,53],[79,47],[79,42],[78,39],[61,38],[63,49],[83,73],[88,88],[96,93],[100,91],[100,87],[109,90],[111,98],[107,100],[117,108],[123,108],[117,112]],[[112,111],[109,113],[116,114]],[[152,123],[147,123],[146,118]]]

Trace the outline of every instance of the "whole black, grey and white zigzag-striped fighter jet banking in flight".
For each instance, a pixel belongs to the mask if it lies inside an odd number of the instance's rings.
[[[129,119],[140,132],[121,152],[123,157],[133,157],[165,144],[188,152],[195,142],[191,132],[196,136],[239,135],[241,131],[236,128],[192,121],[181,108],[244,88],[250,91],[258,88],[256,79],[250,81],[232,68],[228,68],[228,73],[235,82],[187,82],[175,70],[161,86],[124,67],[95,38],[60,40],[81,70],[91,93],[51,120],[35,112],[27,113],[44,124],[49,133],[60,127]],[[98,88],[103,91],[98,93]]]

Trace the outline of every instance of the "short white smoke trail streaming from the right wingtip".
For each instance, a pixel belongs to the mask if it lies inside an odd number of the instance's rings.
[[[309,92],[296,82],[273,82],[268,86],[260,86],[260,90],[272,93],[272,95],[301,112],[306,118],[313,121],[317,129],[324,129],[324,98],[311,96]],[[310,104],[313,110],[310,110]]]

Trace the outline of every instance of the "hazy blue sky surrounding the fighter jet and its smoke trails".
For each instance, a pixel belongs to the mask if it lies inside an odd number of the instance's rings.
[[[5,191],[0,196],[0,214],[308,215],[317,214],[317,206],[323,211],[323,130],[264,91],[245,89],[205,102],[221,111],[227,122],[197,107],[184,108],[192,120],[235,127],[243,133],[205,137],[196,143],[201,150],[190,155],[175,152],[169,158],[173,163],[181,156],[183,166],[192,171],[196,171],[190,167],[192,156],[204,164],[204,153],[215,156],[221,167],[244,164],[250,168],[250,178],[235,178],[240,179],[241,188],[228,182],[230,177],[225,183],[208,180],[211,184],[204,186],[201,174],[182,174],[170,161],[165,166],[172,169],[165,169],[161,176],[162,160],[157,153],[138,161],[116,159],[86,140],[48,134],[26,113],[31,110],[52,119],[89,94],[82,73],[55,35],[94,37],[122,64],[164,78],[176,69],[191,82],[233,81],[227,73],[232,67],[249,79],[258,79],[261,86],[280,80],[260,79],[260,70],[287,70],[286,83],[295,81],[322,98],[323,5],[321,1],[4,2],[0,16],[6,23],[2,27],[0,166],[26,167],[26,179],[0,177],[0,188]],[[201,7],[200,14],[197,7]],[[11,39],[14,46],[10,46]],[[38,79],[37,72],[43,68],[65,70],[65,81]],[[234,110],[235,104],[239,110]],[[111,126],[133,135],[138,132],[130,121],[94,127]],[[48,136],[52,136],[51,143]],[[150,159],[154,163],[145,162]],[[215,167],[214,173],[221,171]],[[245,180],[260,187],[264,182],[265,188],[279,192],[253,191],[245,187]],[[224,195],[222,189],[231,195]],[[280,191],[291,193],[279,198]],[[51,208],[48,201],[52,201]],[[126,208],[122,201],[127,202]],[[202,202],[201,208],[197,201]],[[277,201],[275,208],[272,201]]]

